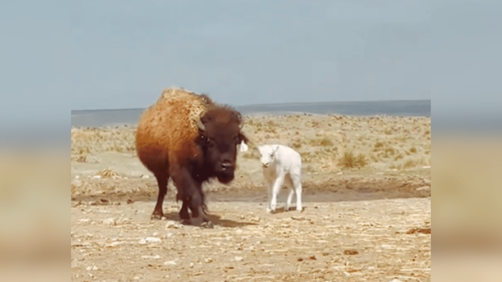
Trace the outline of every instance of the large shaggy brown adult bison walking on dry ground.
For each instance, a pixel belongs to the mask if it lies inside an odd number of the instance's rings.
[[[171,87],[140,117],[136,134],[138,156],[159,185],[152,219],[161,219],[169,177],[183,201],[180,218],[206,217],[202,183],[217,178],[227,184],[234,178],[237,145],[247,143],[238,111],[217,105],[207,95]]]

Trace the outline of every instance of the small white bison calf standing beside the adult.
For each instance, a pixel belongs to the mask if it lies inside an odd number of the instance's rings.
[[[289,210],[296,192],[296,210],[302,211],[302,159],[295,150],[283,145],[262,145],[258,147],[263,175],[268,186],[267,212],[273,213],[277,206],[277,195],[283,184],[290,188],[286,209]]]

